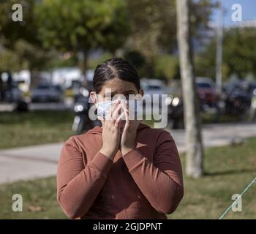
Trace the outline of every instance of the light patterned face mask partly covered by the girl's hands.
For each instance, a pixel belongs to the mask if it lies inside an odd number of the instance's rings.
[[[122,100],[125,103],[127,103],[127,100]],[[110,111],[111,105],[113,105],[115,100],[112,101],[105,101],[105,102],[97,102],[97,116],[101,116],[102,118],[105,118],[108,116],[108,113]],[[131,120],[134,120],[139,117],[139,114],[142,113],[140,109],[140,105],[138,100],[130,100],[128,101],[129,105],[129,118]],[[125,116],[122,118],[125,120]]]

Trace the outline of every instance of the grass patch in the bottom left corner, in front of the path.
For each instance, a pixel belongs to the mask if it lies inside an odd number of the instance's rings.
[[[12,195],[23,197],[23,211],[12,211]],[[66,219],[56,201],[56,178],[0,185],[0,219]]]

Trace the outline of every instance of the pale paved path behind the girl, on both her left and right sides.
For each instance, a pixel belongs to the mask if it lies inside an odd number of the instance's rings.
[[[184,130],[170,130],[179,153],[186,151]],[[225,146],[233,140],[256,136],[256,124],[208,124],[203,126],[205,147]],[[56,175],[63,143],[0,151],[0,183]]]

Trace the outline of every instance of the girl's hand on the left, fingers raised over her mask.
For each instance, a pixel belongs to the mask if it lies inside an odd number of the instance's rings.
[[[119,116],[121,112],[121,102],[117,100],[115,104],[111,107],[110,112],[106,118],[98,117],[102,121],[102,148],[99,152],[108,156],[109,159],[113,161],[114,157],[119,148],[120,144],[120,122],[123,114]]]

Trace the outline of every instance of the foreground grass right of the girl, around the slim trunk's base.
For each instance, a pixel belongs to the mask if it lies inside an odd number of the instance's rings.
[[[217,219],[256,177],[256,137],[242,146],[205,150],[206,176],[184,178],[185,195],[170,219]],[[184,167],[184,156],[181,156]],[[183,168],[184,169],[184,168]],[[242,198],[241,212],[230,211],[225,219],[256,219],[256,184]]]

